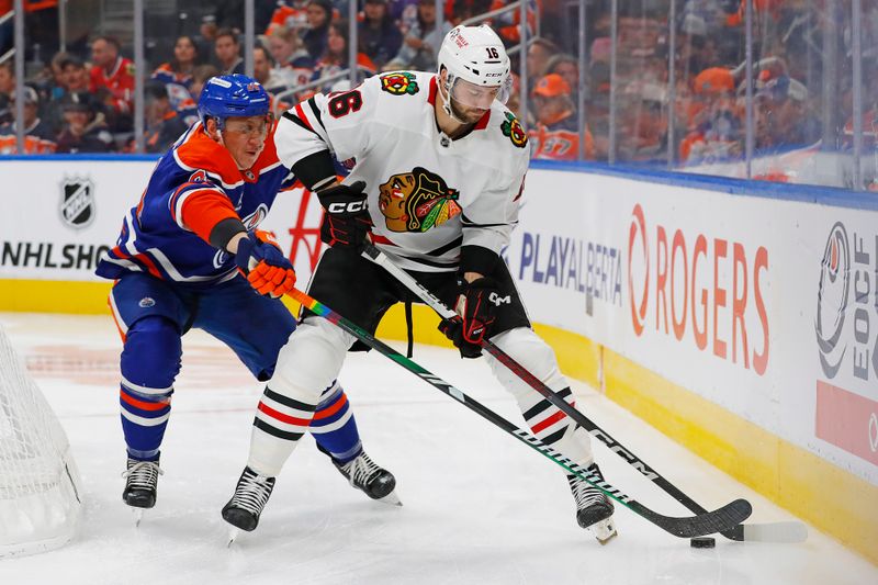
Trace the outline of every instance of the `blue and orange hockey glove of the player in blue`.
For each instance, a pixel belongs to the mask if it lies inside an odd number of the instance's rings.
[[[256,292],[278,299],[295,286],[295,270],[268,232],[247,234],[238,243],[235,263]]]

